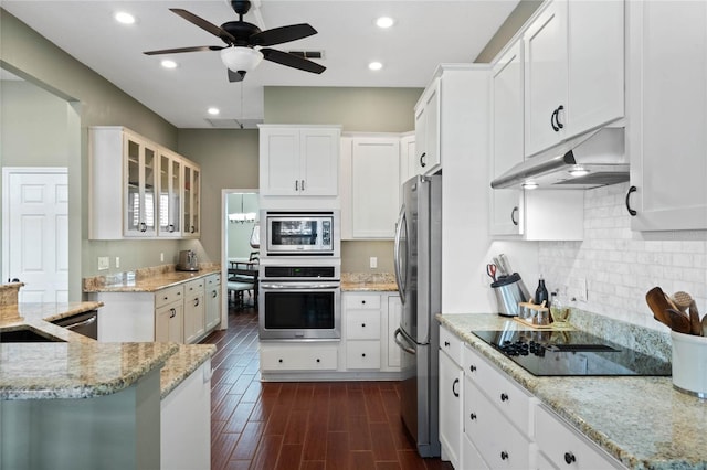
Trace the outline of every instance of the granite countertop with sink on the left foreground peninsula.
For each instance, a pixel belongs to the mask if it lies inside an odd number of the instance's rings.
[[[91,301],[0,306],[0,330],[29,328],[64,341],[0,344],[0,399],[108,395],[155,367],[162,367],[160,396],[165,398],[217,350],[213,344],[99,343],[50,323],[102,306]]]

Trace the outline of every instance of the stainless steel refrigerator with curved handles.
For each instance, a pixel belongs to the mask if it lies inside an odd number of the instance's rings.
[[[421,457],[440,456],[439,345],[442,306],[442,177],[403,185],[394,266],[402,300],[395,343],[402,349],[402,420]]]

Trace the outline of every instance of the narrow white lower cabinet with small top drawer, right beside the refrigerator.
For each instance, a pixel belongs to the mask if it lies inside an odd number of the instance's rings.
[[[440,328],[440,444],[442,460],[461,468],[462,436],[464,435],[462,341]]]

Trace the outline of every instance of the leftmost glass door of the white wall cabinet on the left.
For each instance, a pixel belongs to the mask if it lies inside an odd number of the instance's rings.
[[[127,165],[124,235],[126,237],[155,236],[157,233],[155,221],[157,149],[148,142],[134,138],[128,132],[124,138],[125,164]]]

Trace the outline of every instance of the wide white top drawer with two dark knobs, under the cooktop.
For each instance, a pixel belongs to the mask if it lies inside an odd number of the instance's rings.
[[[536,398],[511,382],[487,360],[464,346],[464,373],[528,437],[532,437],[532,407]],[[493,466],[492,466],[493,467]]]

